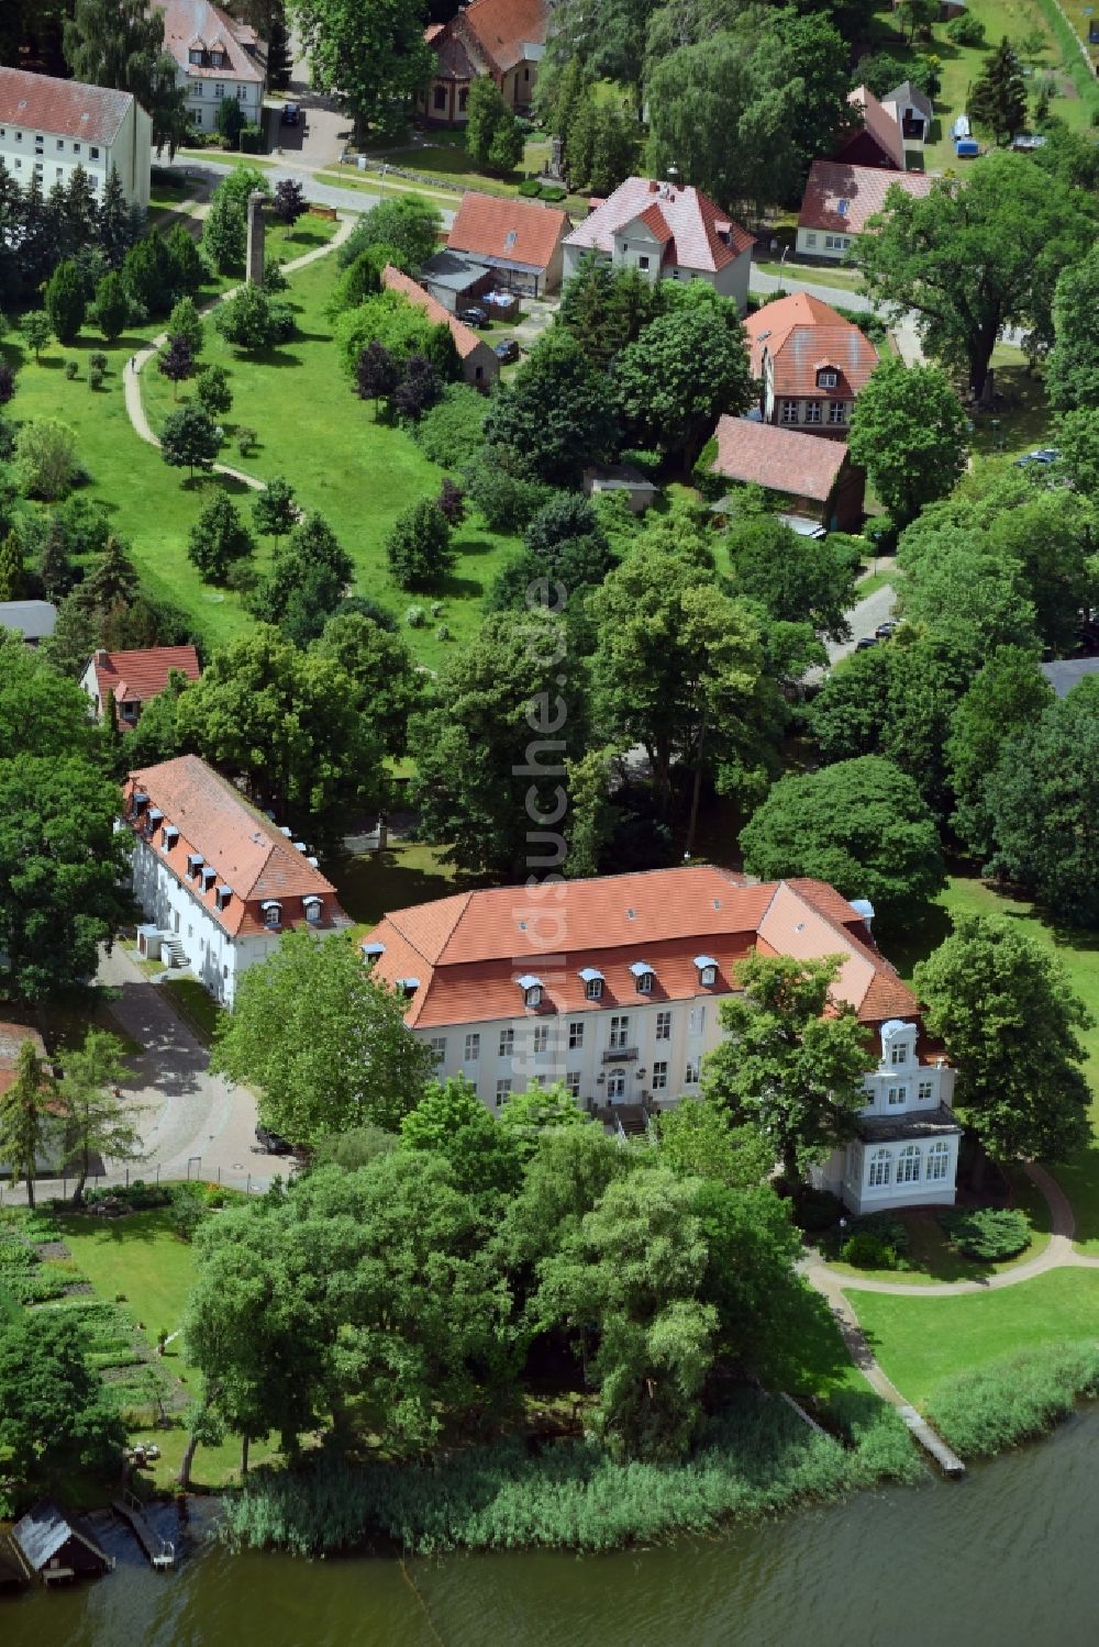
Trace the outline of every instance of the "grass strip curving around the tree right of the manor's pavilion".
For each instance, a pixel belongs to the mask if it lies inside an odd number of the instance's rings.
[[[1020,921],[1031,937],[1053,950],[1064,965],[1073,988],[1084,1000],[1096,1024],[1081,1036],[1087,1049],[1084,1072],[1092,1089],[1092,1131],[1096,1140],[1069,1161],[1056,1163],[1056,1178],[1073,1202],[1076,1237],[1089,1253],[1099,1253],[1099,934],[1059,927],[1033,904],[1003,898],[977,879],[954,876],[923,929],[905,944],[890,944],[890,959],[911,973],[911,967],[939,944],[959,914],[1002,914]]]

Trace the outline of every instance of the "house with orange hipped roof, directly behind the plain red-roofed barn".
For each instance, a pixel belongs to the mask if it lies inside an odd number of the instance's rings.
[[[847,440],[855,397],[878,364],[858,326],[797,292],[748,315],[745,336],[765,423]]]

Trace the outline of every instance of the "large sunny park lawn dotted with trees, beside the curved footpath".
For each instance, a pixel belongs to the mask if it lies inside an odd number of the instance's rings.
[[[415,656],[438,667],[451,642],[440,641],[435,628],[445,623],[455,641],[468,637],[481,621],[481,603],[514,540],[491,534],[476,520],[466,520],[455,532],[458,562],[438,595],[407,595],[389,576],[384,539],[397,516],[419,497],[438,494],[443,471],[428,463],[400,427],[377,422],[372,407],[358,400],[344,377],[333,346],[333,326],[325,303],[338,277],[336,260],[321,259],[292,277],[288,298],[298,315],[300,334],[285,348],[255,357],[236,354],[208,323],[203,359],[229,369],[234,405],[224,420],[226,430],[241,425],[259,430],[259,450],[247,460],[227,461],[262,479],[285,474],[308,511],[318,511],[333,527],[356,568],[356,590],[381,601],[402,618],[410,604],[443,603],[438,618],[420,629],[402,632]],[[153,428],[171,412],[171,387],[158,372],[142,374],[142,394]],[[188,397],[186,387],[178,404]],[[165,494],[188,499],[188,517],[201,506],[199,488],[186,478],[161,473]],[[250,501],[246,499],[246,514]],[[262,568],[267,547],[262,552]],[[188,611],[206,614],[219,608],[222,629],[241,629],[247,618],[236,596],[201,585],[186,562],[186,537],[163,537],[157,545],[157,563],[170,576],[175,598]],[[229,616],[231,614],[231,616]],[[219,639],[221,636],[217,636]]]

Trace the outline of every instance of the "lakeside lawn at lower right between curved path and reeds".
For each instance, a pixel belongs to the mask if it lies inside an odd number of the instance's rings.
[[[849,1291],[885,1372],[921,1405],[944,1379],[1033,1344],[1096,1336],[1099,1270],[1050,1270],[1033,1281],[959,1298]]]

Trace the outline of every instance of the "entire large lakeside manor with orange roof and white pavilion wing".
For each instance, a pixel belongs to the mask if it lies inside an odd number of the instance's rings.
[[[611,1125],[646,1125],[699,1095],[737,962],[840,955],[835,1000],[867,1029],[867,1107],[822,1181],[858,1212],[954,1201],[954,1072],[921,1062],[916,998],[875,947],[868,904],[822,881],[750,883],[710,865],[554,893],[550,904],[509,886],[390,911],[362,944],[440,1079],[465,1075],[493,1110],[562,1082]]]

